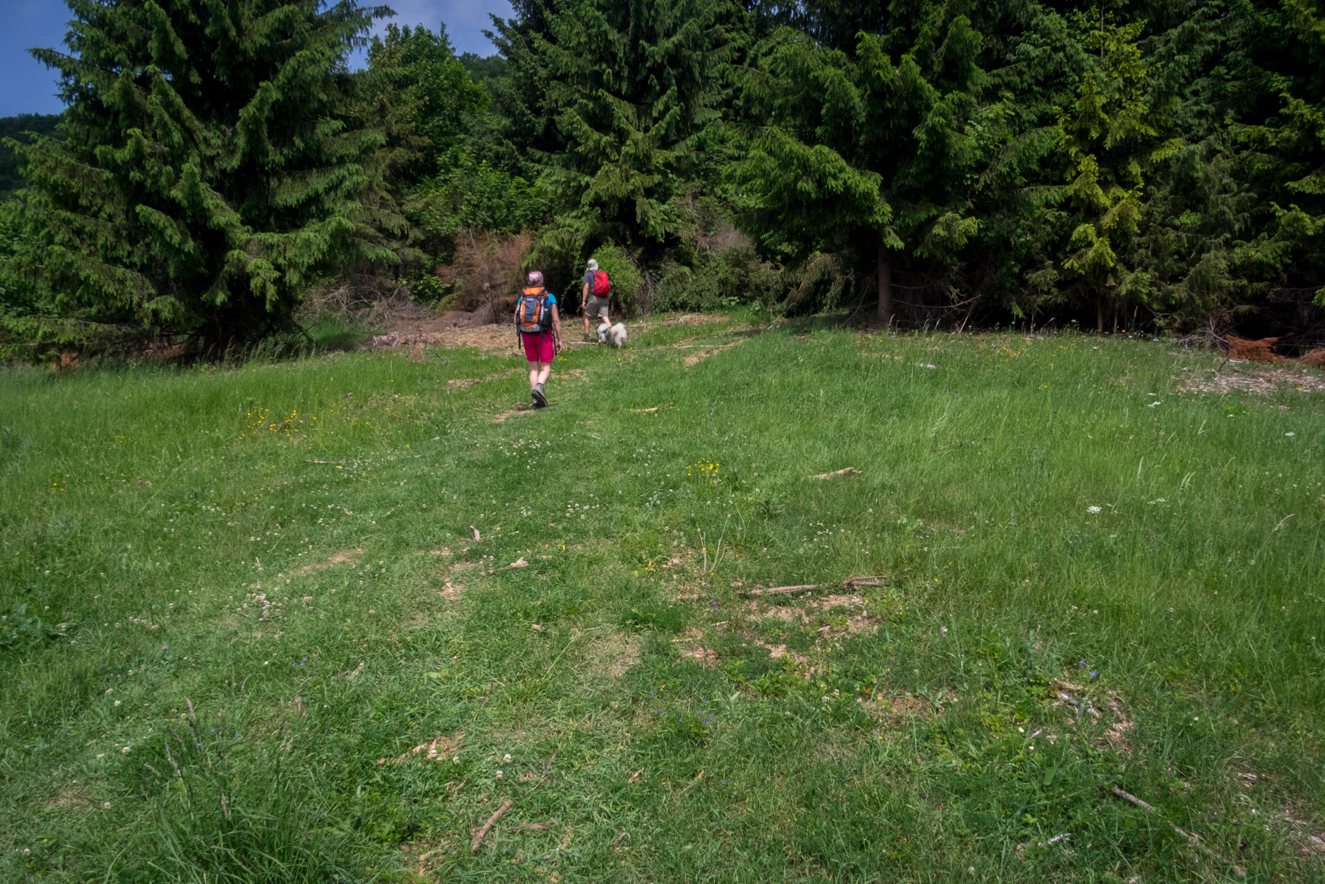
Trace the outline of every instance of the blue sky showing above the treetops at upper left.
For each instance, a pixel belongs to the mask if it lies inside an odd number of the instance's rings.
[[[390,0],[388,0],[390,3]],[[436,29],[447,23],[456,52],[493,53],[484,37],[490,27],[488,13],[510,15],[506,0],[396,0],[398,24],[423,24]],[[26,53],[32,46],[60,46],[65,37],[69,9],[60,0],[0,0],[4,27],[0,28],[0,117],[11,114],[56,114],[54,76]]]

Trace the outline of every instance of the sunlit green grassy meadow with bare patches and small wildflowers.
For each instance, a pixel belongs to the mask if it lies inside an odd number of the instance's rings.
[[[0,880],[1325,877],[1325,394],[632,335],[4,370]]]

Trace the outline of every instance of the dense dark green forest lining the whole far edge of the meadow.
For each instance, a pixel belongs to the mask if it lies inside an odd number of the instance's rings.
[[[627,313],[1325,341],[1317,0],[515,0],[492,58],[352,0],[69,5],[58,131],[5,142],[11,357],[590,254]]]

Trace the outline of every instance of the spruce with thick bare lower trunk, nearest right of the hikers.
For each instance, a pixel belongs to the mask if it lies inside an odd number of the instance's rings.
[[[975,101],[986,74],[970,19],[913,5],[892,30],[860,33],[855,56],[778,32],[746,82],[762,126],[729,171],[743,225],[766,245],[873,253],[884,322],[898,249],[943,260],[977,232],[973,184],[988,160],[977,130],[1002,115]],[[890,45],[905,46],[896,62]]]

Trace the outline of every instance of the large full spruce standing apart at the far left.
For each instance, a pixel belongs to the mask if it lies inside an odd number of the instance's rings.
[[[66,0],[64,142],[19,146],[37,243],[5,272],[66,311],[208,346],[288,327],[307,286],[392,261],[358,216],[380,131],[346,56],[354,0]]]

